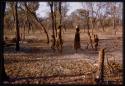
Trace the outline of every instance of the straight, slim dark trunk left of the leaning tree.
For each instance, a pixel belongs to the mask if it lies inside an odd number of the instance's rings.
[[[18,12],[17,12],[17,2],[15,3],[15,17],[16,17],[16,51],[20,50],[20,30],[19,30],[19,20],[18,20]]]

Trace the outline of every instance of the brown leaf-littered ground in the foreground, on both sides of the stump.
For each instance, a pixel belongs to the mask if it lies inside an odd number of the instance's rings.
[[[81,55],[82,56],[82,55]],[[80,55],[58,57],[33,57],[33,55],[5,55],[7,74],[15,81],[10,83],[31,84],[95,84],[97,67],[90,59]],[[110,61],[105,65],[105,80],[117,84],[122,81],[122,64]],[[113,69],[111,69],[112,67]],[[45,80],[44,80],[45,79]],[[119,82],[120,81],[120,82]]]

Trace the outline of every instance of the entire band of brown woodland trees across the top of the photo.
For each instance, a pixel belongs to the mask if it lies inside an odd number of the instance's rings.
[[[116,32],[117,26],[122,25],[122,3],[81,2],[82,9],[77,9],[71,15],[67,15],[69,10],[68,2],[50,1],[47,2],[50,7],[50,13],[47,18],[40,18],[36,15],[39,2],[0,2],[0,4],[2,5],[1,19],[4,18],[4,28],[8,31],[15,31],[16,51],[20,50],[20,35],[23,34],[23,38],[25,38],[25,33],[29,33],[33,29],[43,30],[47,38],[47,43],[49,43],[48,30],[51,30],[54,36],[57,36],[57,27],[59,25],[70,29],[74,25],[79,24],[80,27],[88,30],[88,35],[90,34],[90,29],[92,29],[93,33],[93,29],[102,28],[105,31],[105,27],[113,26],[112,28]],[[3,29],[0,30],[0,40],[2,41]],[[2,46],[2,43],[0,42],[0,46]],[[0,48],[0,53],[2,55],[3,46]],[[0,68],[2,69],[0,70],[4,70],[3,62],[2,55],[0,58]],[[3,77],[1,76],[5,74],[2,71],[0,71],[0,74],[2,74],[0,75],[0,81],[2,81]]]

